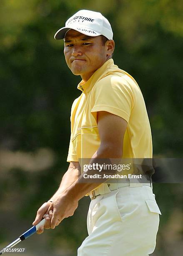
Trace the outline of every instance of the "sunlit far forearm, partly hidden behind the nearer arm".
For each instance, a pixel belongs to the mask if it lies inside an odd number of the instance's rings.
[[[49,201],[53,201],[60,193],[64,192],[68,187],[70,187],[74,182],[78,180],[80,175],[80,171],[78,169],[78,162],[70,163],[70,166],[63,175],[62,181],[60,182],[60,186],[55,194],[50,198]]]

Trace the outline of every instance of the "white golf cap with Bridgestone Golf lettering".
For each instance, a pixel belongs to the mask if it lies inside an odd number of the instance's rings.
[[[79,10],[75,13],[66,21],[65,27],[60,28],[55,33],[54,38],[57,40],[63,39],[70,29],[87,36],[103,35],[109,40],[113,39],[113,31],[109,21],[101,13],[90,10]]]

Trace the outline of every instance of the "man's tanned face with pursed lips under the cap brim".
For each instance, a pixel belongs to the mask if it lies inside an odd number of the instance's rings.
[[[90,37],[73,29],[69,30],[64,38],[64,55],[73,74],[80,75],[87,81],[107,59],[110,59],[107,42],[104,46],[101,36]]]

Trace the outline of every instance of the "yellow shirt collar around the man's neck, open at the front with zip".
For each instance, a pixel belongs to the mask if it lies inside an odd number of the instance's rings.
[[[87,93],[89,92],[93,85],[99,80],[101,79],[103,76],[105,76],[105,74],[107,74],[108,72],[110,72],[110,69],[117,69],[118,66],[114,64],[113,59],[108,59],[107,61],[105,61],[105,63],[99,68],[97,69],[93,75],[90,77],[90,79],[88,79],[87,82],[84,82],[83,80],[78,84],[78,89],[81,90],[83,93]],[[112,71],[112,70],[111,70]]]

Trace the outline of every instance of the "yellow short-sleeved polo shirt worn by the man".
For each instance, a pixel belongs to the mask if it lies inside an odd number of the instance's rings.
[[[98,150],[98,111],[107,111],[127,121],[123,158],[152,158],[152,138],[145,102],[130,74],[109,59],[87,82],[82,80],[78,89],[82,93],[71,108],[68,162],[91,158]]]

